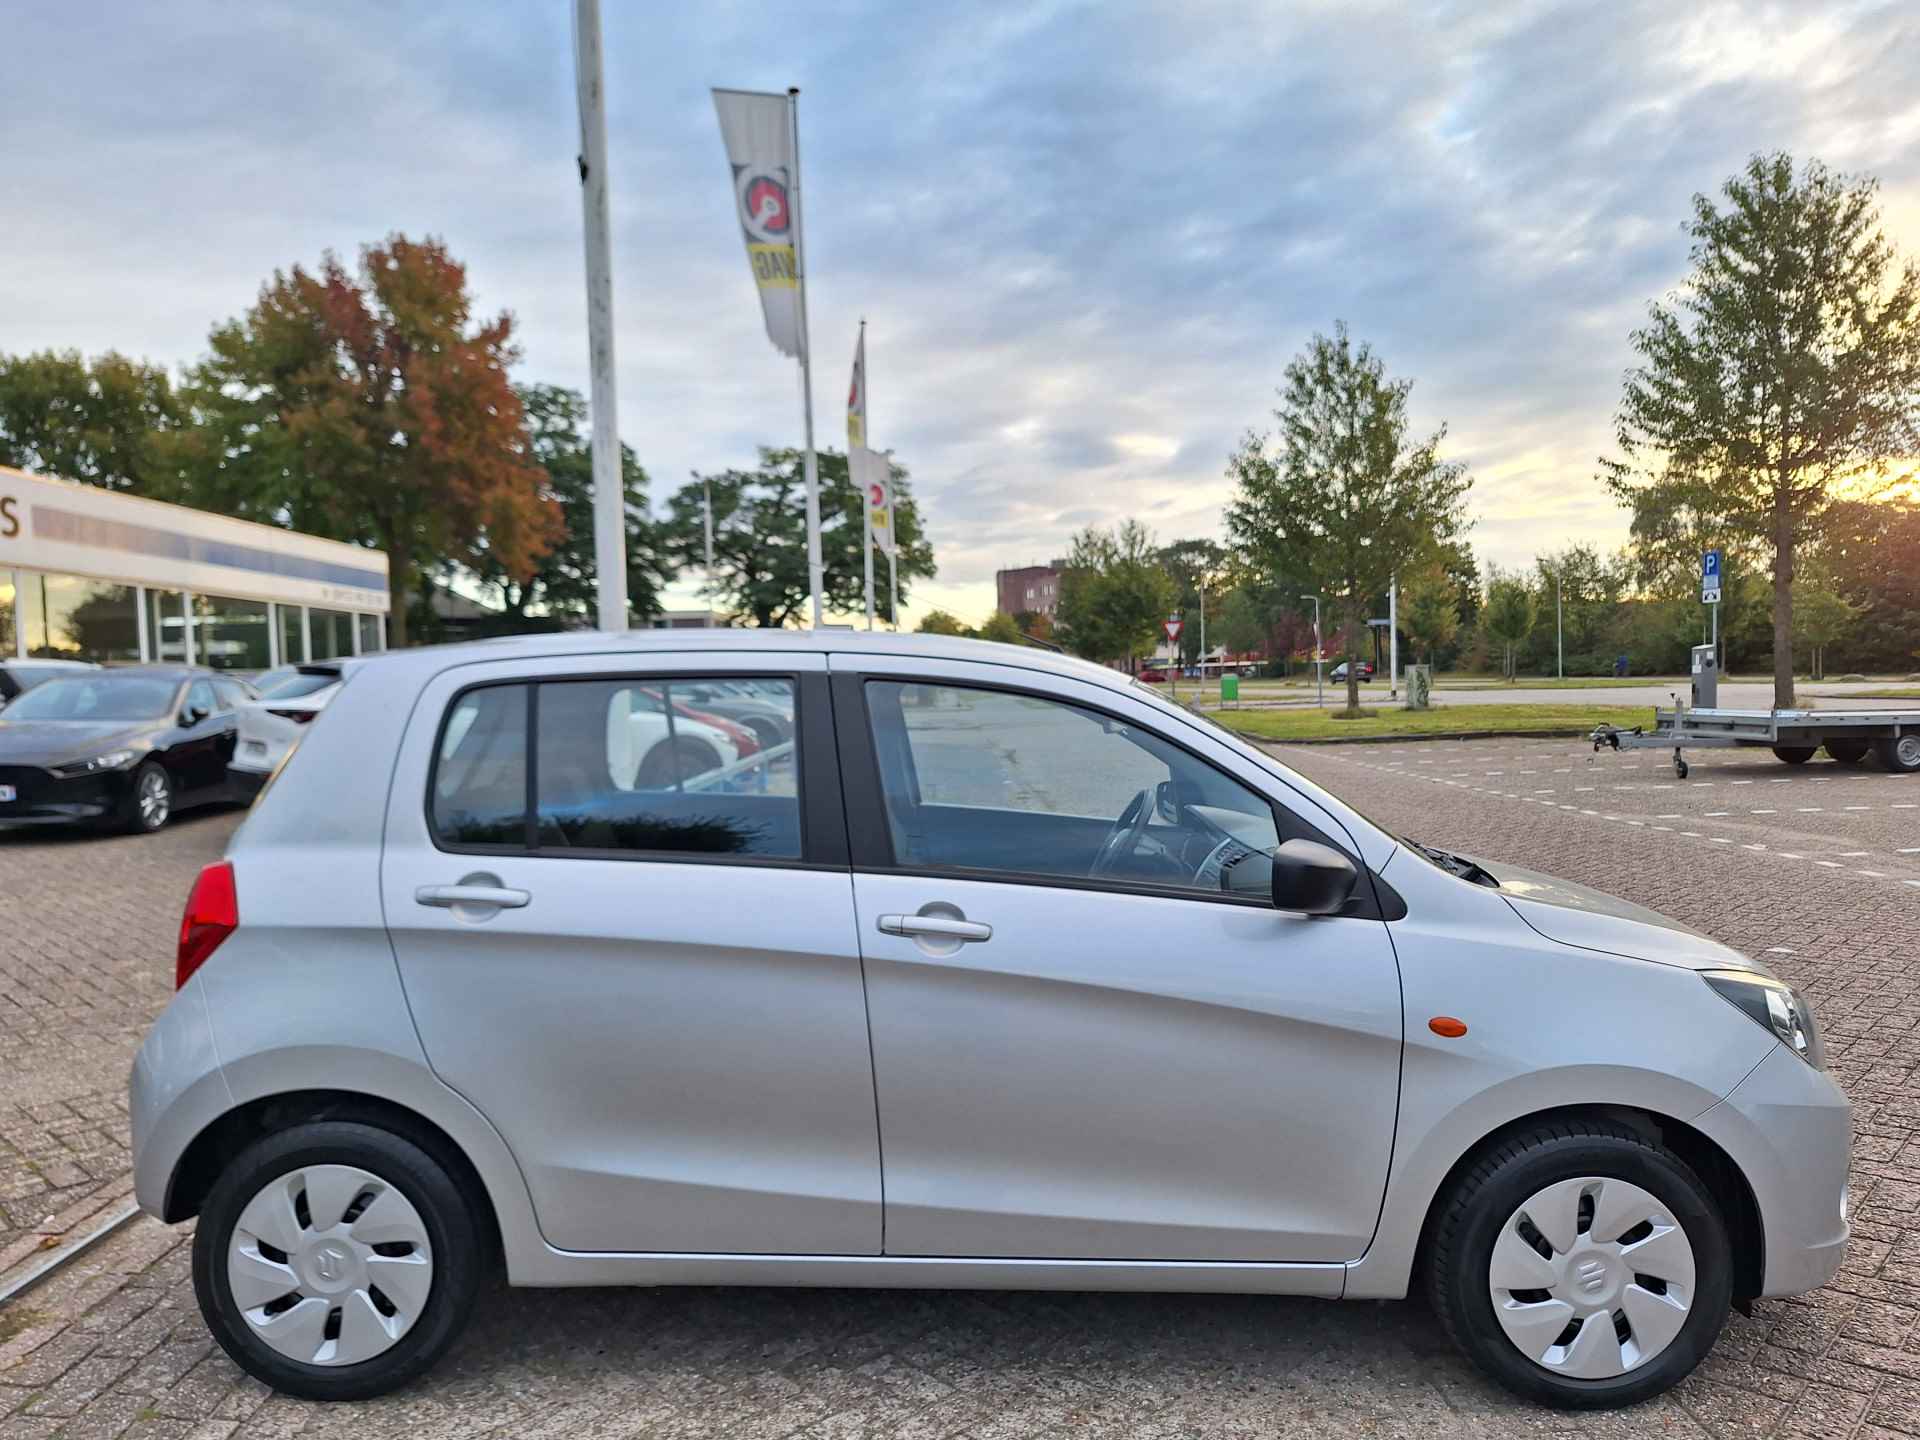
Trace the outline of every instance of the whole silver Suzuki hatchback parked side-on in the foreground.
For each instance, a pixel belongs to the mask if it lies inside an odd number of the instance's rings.
[[[843,632],[359,666],[200,876],[132,1071],[215,1336],[342,1400],[499,1263],[1419,1284],[1503,1384],[1620,1405],[1834,1273],[1847,1121],[1803,1000],[1711,939],[1384,833],[1110,670]]]

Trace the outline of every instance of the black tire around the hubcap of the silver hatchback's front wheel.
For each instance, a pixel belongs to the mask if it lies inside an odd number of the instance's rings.
[[[1500,1229],[1538,1190],[1597,1175],[1649,1190],[1693,1246],[1695,1294],[1688,1319],[1653,1359],[1607,1380],[1555,1375],[1521,1354],[1494,1315],[1488,1267]],[[1713,1194],[1678,1156],[1607,1121],[1548,1121],[1480,1154],[1436,1200],[1427,1236],[1427,1292],[1469,1359],[1526,1400],[1557,1409],[1613,1409],[1668,1390],[1718,1338],[1732,1304],[1732,1248]]]

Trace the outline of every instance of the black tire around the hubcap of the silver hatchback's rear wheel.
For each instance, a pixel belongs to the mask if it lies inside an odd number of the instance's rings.
[[[309,1365],[253,1334],[227,1279],[227,1244],[248,1202],[301,1165],[357,1165],[399,1190],[426,1225],[434,1256],[428,1300],[394,1346],[357,1365]],[[472,1206],[447,1171],[411,1140],[355,1121],[313,1121],[242,1150],[215,1181],[194,1231],[200,1313],[248,1375],[301,1400],[369,1400],[397,1390],[438,1361],[467,1325],[480,1288],[484,1248]]]

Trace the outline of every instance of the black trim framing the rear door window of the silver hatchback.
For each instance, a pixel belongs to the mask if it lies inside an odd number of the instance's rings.
[[[628,851],[588,845],[540,843],[540,687],[543,684],[591,682],[699,682],[699,680],[781,680],[793,685],[793,749],[799,758],[801,852],[783,854],[708,854],[697,851]],[[526,831],[518,845],[459,845],[440,835],[434,822],[434,780],[440,774],[440,747],[459,703],[478,689],[522,685],[526,689]],[[668,707],[668,712],[672,707]],[[434,726],[432,751],[426,764],[426,793],[422,810],[426,837],[444,854],[516,854],[528,860],[632,860],[641,864],[710,864],[743,866],[751,870],[837,870],[849,868],[847,816],[839,799],[839,760],[833,753],[833,703],[828,695],[828,676],[820,670],[741,670],[737,666],[685,666],[676,670],[582,670],[576,674],[522,674],[476,680],[447,697]]]

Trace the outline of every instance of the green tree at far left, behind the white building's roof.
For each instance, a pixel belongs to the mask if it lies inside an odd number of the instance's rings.
[[[0,355],[0,465],[171,497],[159,440],[180,419],[159,365],[113,351]]]

